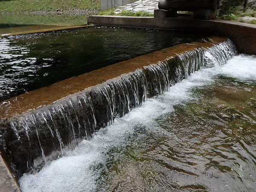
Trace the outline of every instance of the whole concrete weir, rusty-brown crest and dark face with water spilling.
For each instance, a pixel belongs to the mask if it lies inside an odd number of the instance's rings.
[[[163,93],[190,73],[206,67],[204,52],[213,49],[218,49],[218,55],[225,55],[225,59],[233,56],[230,49],[236,50],[227,38],[212,36],[122,61],[2,102],[0,152],[6,168],[17,181],[23,173],[43,166],[48,157],[63,156],[65,148],[74,148],[116,117],[143,105],[147,97]],[[8,175],[8,171],[1,174],[1,180]],[[17,185],[7,187],[6,191],[17,191]]]

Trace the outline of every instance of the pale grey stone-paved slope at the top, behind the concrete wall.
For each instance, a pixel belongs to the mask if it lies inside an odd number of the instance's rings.
[[[154,14],[154,9],[158,9],[158,0],[138,0],[134,3],[127,4],[126,6],[120,6],[114,12],[118,14],[121,11],[133,11]]]

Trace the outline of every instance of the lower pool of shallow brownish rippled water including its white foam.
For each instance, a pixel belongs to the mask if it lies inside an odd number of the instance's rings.
[[[256,57],[239,55],[147,99],[65,157],[20,179],[23,192],[256,188]]]

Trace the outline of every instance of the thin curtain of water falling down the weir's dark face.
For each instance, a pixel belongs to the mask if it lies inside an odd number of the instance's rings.
[[[115,118],[142,106],[147,97],[168,91],[196,70],[224,64],[237,55],[230,40],[209,43],[213,46],[185,51],[36,111],[1,119],[1,153],[18,178],[40,169],[49,159],[61,157],[81,140],[90,139]]]

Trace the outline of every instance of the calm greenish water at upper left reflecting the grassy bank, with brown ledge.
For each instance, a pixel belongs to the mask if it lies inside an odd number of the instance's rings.
[[[10,35],[47,32],[85,26],[88,15],[57,13],[0,14],[0,38]]]

